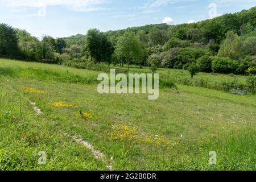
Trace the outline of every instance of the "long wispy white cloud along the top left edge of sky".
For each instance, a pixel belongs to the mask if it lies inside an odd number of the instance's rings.
[[[46,7],[64,6],[73,11],[97,11],[104,8],[99,7],[109,0],[0,0],[0,3],[11,7]]]

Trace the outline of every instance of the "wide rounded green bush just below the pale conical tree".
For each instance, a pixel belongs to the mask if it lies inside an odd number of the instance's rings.
[[[239,64],[229,57],[215,57],[212,61],[212,71],[215,73],[237,73]]]

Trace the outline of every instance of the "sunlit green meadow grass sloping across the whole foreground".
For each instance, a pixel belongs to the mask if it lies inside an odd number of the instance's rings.
[[[45,70],[48,77],[27,68]],[[96,83],[80,81],[98,73],[0,60],[0,169],[106,169],[106,162],[94,159],[65,132],[113,157],[116,170],[255,170],[255,96],[184,85],[177,85],[180,94],[160,89],[155,101],[145,94],[98,94]],[[221,80],[221,75],[207,76]],[[47,93],[28,93],[23,86]],[[27,100],[43,114],[36,115]],[[93,118],[80,117],[80,110]],[[45,166],[37,163],[39,151],[46,151]],[[210,151],[217,152],[216,166],[208,164]]]

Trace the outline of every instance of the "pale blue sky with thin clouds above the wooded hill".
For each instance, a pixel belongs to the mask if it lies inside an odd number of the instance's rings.
[[[198,22],[253,6],[256,0],[0,0],[0,23],[57,38],[90,28]]]

